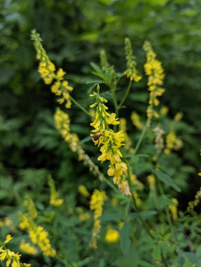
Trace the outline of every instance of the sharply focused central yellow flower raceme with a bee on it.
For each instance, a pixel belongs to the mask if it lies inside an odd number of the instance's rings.
[[[108,175],[114,176],[113,181],[118,185],[119,189],[123,194],[130,195],[128,181],[126,180],[126,171],[128,169],[127,164],[122,161],[122,153],[120,147],[124,145],[123,131],[117,133],[113,132],[109,128],[109,125],[119,124],[116,114],[109,114],[107,112],[108,107],[104,104],[108,101],[99,96],[99,86],[97,86],[97,93],[93,92],[90,97],[95,97],[96,101],[94,104],[90,105],[90,108],[96,107],[95,120],[90,124],[94,127],[91,131],[91,136],[93,137],[93,142],[98,146],[102,145],[100,148],[100,155],[97,159],[101,162],[106,160],[110,161]]]

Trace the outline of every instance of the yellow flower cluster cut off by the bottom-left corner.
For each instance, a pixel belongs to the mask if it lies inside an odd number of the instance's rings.
[[[21,258],[21,254],[19,254],[18,252],[15,253],[14,251],[11,251],[10,249],[8,249],[6,247],[6,244],[10,242],[10,240],[13,239],[13,237],[8,234],[6,237],[6,240],[4,241],[4,245],[0,246],[0,260],[7,260],[6,261],[6,266],[10,267],[29,267],[31,266],[30,263],[21,263],[20,262],[20,258]]]

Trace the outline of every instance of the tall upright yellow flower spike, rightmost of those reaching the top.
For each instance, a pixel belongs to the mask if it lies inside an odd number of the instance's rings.
[[[157,97],[162,96],[165,92],[165,89],[160,87],[163,84],[165,77],[164,70],[161,66],[161,62],[156,59],[156,54],[148,41],[144,43],[143,49],[146,51],[147,62],[144,64],[144,69],[145,74],[148,75],[147,85],[148,90],[150,91],[147,116],[150,118],[152,116],[158,118],[159,115],[153,110],[153,106],[159,105]]]

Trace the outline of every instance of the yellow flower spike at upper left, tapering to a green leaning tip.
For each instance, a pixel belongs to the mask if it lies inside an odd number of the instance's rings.
[[[36,58],[40,61],[38,72],[40,73],[45,84],[54,83],[51,86],[51,91],[60,98],[57,100],[60,104],[65,103],[66,108],[71,107],[71,100],[69,92],[73,90],[71,86],[68,85],[68,81],[63,80],[66,74],[62,68],[59,68],[56,72],[55,65],[50,61],[46,54],[45,49],[42,46],[42,39],[40,35],[36,33],[36,30],[32,31],[31,39],[34,41],[34,47],[36,49]]]

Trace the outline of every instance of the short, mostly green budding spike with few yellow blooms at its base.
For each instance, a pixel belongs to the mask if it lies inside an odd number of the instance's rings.
[[[142,76],[136,70],[135,56],[133,55],[129,38],[125,38],[125,52],[127,60],[127,70],[124,72],[124,75],[126,75],[127,78],[130,78],[131,81],[139,82],[142,79]]]

